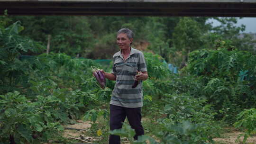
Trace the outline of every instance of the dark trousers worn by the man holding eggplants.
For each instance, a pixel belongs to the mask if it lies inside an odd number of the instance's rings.
[[[144,135],[144,129],[141,125],[141,108],[124,108],[110,105],[110,130],[122,128],[122,122],[127,117],[131,128],[135,129],[137,140],[139,135]],[[121,144],[120,136],[110,135],[109,144]]]

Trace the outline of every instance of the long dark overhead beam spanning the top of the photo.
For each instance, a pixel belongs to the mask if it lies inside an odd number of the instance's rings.
[[[9,15],[256,17],[256,0],[0,0]]]

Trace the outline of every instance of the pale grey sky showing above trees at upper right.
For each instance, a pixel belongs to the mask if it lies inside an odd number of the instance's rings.
[[[219,25],[219,22],[217,20],[211,19],[210,21],[213,22],[212,25],[214,27]],[[241,26],[242,24],[246,26],[246,30],[244,31],[245,33],[256,33],[256,18],[238,19],[238,23],[236,24],[236,26]]]

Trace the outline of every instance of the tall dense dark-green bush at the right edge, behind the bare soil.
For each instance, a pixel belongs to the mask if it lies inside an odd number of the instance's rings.
[[[202,78],[200,95],[216,110],[229,109],[225,117],[221,114],[219,118],[233,123],[231,117],[255,103],[255,55],[222,41],[217,50],[194,51],[189,59],[185,72]]]

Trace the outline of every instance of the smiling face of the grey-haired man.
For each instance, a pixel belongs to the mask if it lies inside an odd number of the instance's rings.
[[[132,42],[132,38],[128,38],[127,34],[121,33],[117,36],[117,45],[120,49],[128,49],[130,48],[130,44]]]

